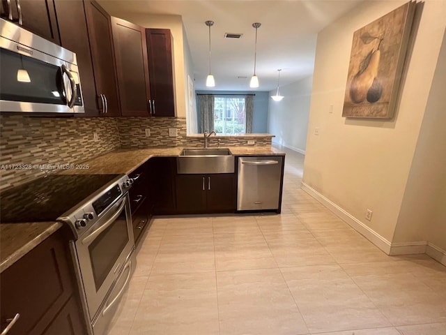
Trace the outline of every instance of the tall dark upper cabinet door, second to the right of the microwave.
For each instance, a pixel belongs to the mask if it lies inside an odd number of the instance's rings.
[[[102,116],[116,117],[121,113],[110,15],[95,1],[86,0],[84,3],[97,99],[100,101]],[[103,104],[101,94],[105,98]]]

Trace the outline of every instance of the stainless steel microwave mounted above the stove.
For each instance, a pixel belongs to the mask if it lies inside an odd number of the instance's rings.
[[[83,113],[76,54],[0,19],[0,111]]]

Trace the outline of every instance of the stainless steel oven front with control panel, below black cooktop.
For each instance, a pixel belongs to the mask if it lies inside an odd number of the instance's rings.
[[[132,179],[115,179],[82,206],[59,218],[71,223],[71,241],[86,318],[94,335],[103,335],[134,271],[134,237],[128,188]]]

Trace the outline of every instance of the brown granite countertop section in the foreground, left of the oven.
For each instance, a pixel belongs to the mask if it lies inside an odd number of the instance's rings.
[[[1,223],[0,272],[62,227],[60,222]]]

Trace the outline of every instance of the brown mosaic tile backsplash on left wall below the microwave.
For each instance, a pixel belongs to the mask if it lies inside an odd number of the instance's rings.
[[[93,140],[93,131],[98,141]],[[0,115],[0,190],[118,149],[116,119]]]

